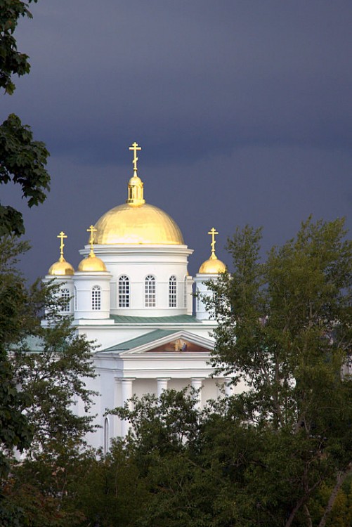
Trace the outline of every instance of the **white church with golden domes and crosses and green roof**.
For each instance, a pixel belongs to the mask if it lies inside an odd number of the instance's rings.
[[[158,207],[145,202],[138,176],[137,143],[133,176],[127,199],[105,212],[90,226],[89,243],[79,252],[77,270],[63,255],[65,233],[60,238],[60,258],[49,268],[45,281],[60,285],[67,298],[65,313],[72,316],[77,334],[95,340],[96,379],[89,388],[100,393],[93,413],[98,431],[90,443],[107,450],[110,439],[124,436],[128,424],[118,417],[104,417],[106,408],[124,405],[133,394],[159,395],[164,389],[198,389],[198,405],[228,391],[227,379],[212,378],[209,352],[216,322],[202,302],[207,280],[216,280],[226,266],[215,254],[215,228],[211,254],[195,277],[188,274],[193,254],[176,222]],[[194,300],[193,292],[200,297]],[[193,310],[193,304],[195,309]],[[84,412],[77,403],[77,411]]]

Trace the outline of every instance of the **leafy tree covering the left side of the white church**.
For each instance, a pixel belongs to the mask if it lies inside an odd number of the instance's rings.
[[[56,285],[36,282],[27,289],[15,268],[27,243],[5,238],[0,243],[0,346],[11,375],[20,386],[20,412],[32,430],[27,453],[70,452],[82,446],[92,431],[89,416],[93,391],[85,379],[95,377],[92,344],[75,334],[70,318],[63,315],[65,299]],[[41,316],[46,308],[45,326]],[[27,394],[27,395],[26,395]],[[79,417],[74,405],[80,399],[87,412]]]

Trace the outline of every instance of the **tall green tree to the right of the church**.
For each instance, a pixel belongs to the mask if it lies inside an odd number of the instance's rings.
[[[341,375],[352,346],[352,242],[345,237],[343,220],[308,219],[261,263],[261,230],[237,230],[228,241],[233,273],[209,283],[219,323],[212,364],[233,384],[247,383],[236,397],[238,415],[265,438],[247,481],[260,525],[271,515],[272,525],[311,526],[309,508],[327,483],[325,526],[352,471],[352,382]]]

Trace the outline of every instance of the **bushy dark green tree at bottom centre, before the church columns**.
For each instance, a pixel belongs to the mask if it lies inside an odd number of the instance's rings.
[[[141,513],[127,525],[249,526],[240,514],[248,500],[240,493],[256,434],[239,427],[226,401],[202,411],[196,403],[194,391],[170,390],[160,398],[133,398],[133,410],[111,412],[131,422],[124,452],[146,494]]]

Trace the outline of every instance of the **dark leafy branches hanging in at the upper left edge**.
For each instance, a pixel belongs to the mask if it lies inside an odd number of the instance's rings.
[[[12,95],[15,90],[13,75],[30,72],[25,53],[17,50],[13,33],[20,17],[32,18],[28,6],[37,0],[0,0],[0,87]],[[30,126],[22,125],[14,114],[0,125],[0,183],[13,181],[22,189],[28,206],[46,199],[50,176],[45,169],[48,150],[41,141],[33,141]],[[22,214],[13,207],[0,204],[0,236],[25,232]]]

